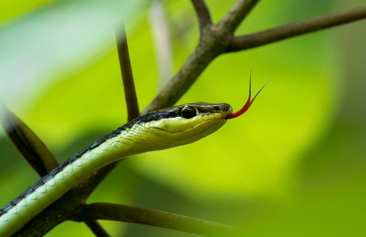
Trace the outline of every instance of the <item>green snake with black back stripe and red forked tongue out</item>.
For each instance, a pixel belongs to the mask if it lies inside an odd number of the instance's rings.
[[[251,99],[249,86],[247,102],[235,113],[227,103],[200,102],[169,107],[132,119],[67,159],[1,208],[0,236],[14,235],[81,180],[109,163],[186,145],[210,135],[228,119],[245,113],[262,88]]]

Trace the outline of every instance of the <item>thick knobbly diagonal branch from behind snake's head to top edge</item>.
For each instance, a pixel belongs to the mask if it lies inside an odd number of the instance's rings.
[[[238,0],[222,21],[204,28],[201,31],[201,38],[196,49],[189,55],[181,70],[166,84],[141,114],[175,104],[203,70],[217,56],[226,51],[233,37],[232,32],[258,1]]]

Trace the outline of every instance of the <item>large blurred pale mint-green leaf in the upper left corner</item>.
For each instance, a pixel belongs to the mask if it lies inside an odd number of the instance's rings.
[[[0,95],[29,108],[57,79],[95,62],[114,43],[122,19],[131,25],[144,1],[67,0],[46,6],[0,29]],[[134,17],[134,18],[132,18]]]

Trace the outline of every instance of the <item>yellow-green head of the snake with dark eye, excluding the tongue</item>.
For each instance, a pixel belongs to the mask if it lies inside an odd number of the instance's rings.
[[[231,113],[226,103],[200,102],[161,109],[146,115],[150,118],[143,125],[148,133],[145,137],[157,150],[185,145],[218,130]]]

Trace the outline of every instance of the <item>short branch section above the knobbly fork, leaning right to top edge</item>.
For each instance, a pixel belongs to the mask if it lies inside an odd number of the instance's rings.
[[[259,0],[237,0],[229,12],[218,23],[221,30],[233,34]]]

